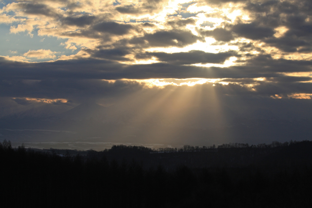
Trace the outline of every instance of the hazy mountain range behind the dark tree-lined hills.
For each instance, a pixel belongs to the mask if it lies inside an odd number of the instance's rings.
[[[168,110],[139,104],[104,107],[94,102],[75,107],[65,104],[14,104],[10,111],[1,114],[0,140],[209,146],[228,142],[257,144],[312,138],[312,121],[309,119],[287,120],[265,108],[244,113],[242,115],[229,107],[222,107],[221,110],[203,107]],[[250,116],[246,116],[248,114]]]

